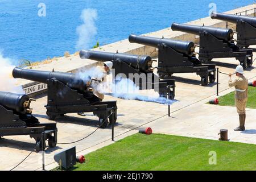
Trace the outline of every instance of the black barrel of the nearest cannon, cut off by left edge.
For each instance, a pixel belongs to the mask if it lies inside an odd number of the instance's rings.
[[[24,107],[24,102],[29,101],[30,97],[26,94],[1,92],[0,91],[0,105],[6,109],[16,111],[21,114],[25,114],[26,108]]]

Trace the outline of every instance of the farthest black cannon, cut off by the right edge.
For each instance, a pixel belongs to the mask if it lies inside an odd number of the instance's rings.
[[[210,17],[236,23],[237,46],[247,48],[250,45],[256,45],[256,18],[214,12],[212,12]]]

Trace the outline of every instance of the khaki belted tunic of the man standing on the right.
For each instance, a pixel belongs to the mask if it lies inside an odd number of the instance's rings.
[[[240,75],[235,80],[229,80],[229,86],[235,87],[235,97],[239,100],[245,100],[248,97],[248,80],[245,76]],[[240,92],[239,90],[245,90]]]

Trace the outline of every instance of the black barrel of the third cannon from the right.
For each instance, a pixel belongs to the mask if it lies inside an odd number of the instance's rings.
[[[193,42],[186,42],[181,40],[172,40],[172,39],[162,39],[162,38],[152,38],[150,36],[139,36],[139,35],[130,35],[129,36],[130,43],[138,43],[143,44],[146,46],[156,47],[158,48],[159,45],[166,45],[177,52],[184,53],[186,55],[190,55],[191,52],[194,50],[192,47],[195,46]]]

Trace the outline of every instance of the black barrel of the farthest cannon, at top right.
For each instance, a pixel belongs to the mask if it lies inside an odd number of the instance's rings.
[[[237,21],[242,20],[244,22],[251,24],[251,26],[256,27],[256,18],[252,18],[249,16],[230,15],[225,13],[212,12],[212,14],[210,14],[210,18],[224,20],[226,22],[231,22],[231,23],[237,23]]]

